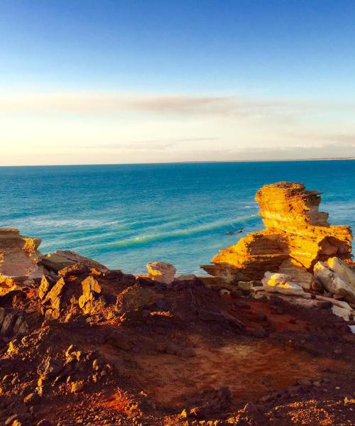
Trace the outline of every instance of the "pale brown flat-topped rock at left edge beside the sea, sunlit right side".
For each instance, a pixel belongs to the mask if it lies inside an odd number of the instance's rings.
[[[0,228],[0,277],[28,277],[40,273],[39,238],[20,235],[16,228]]]

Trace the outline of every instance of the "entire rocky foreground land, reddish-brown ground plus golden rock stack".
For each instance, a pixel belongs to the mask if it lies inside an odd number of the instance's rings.
[[[266,230],[175,277],[0,229],[3,425],[354,425],[351,230],[263,187]]]

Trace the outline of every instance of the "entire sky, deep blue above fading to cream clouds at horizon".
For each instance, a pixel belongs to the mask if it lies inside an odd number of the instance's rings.
[[[0,165],[327,157],[353,0],[0,1]]]

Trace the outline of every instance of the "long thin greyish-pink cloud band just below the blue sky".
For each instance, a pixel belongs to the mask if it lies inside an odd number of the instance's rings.
[[[67,92],[7,94],[0,97],[0,112],[67,114],[139,113],[226,118],[295,119],[336,111],[355,111],[355,102],[318,102],[310,99],[264,99],[235,95],[124,94]]]

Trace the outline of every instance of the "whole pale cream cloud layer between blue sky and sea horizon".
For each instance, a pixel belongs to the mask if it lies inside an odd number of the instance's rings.
[[[21,162],[31,164],[43,152],[47,163],[349,157],[354,112],[355,102],[341,100],[3,94],[0,162],[19,163],[23,155]]]

